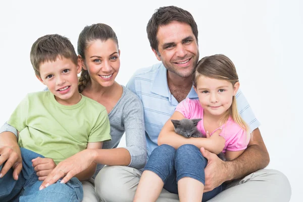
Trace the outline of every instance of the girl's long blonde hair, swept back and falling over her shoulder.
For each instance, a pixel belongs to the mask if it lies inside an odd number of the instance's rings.
[[[239,81],[234,64],[229,58],[221,54],[204,57],[198,62],[193,74],[193,86],[195,88],[197,87],[197,80],[201,75],[209,78],[229,81],[233,87],[235,83]],[[247,132],[247,135],[249,137],[249,126],[245,123],[245,121],[238,113],[235,96],[232,97],[231,107],[221,118],[220,125],[222,125],[222,123],[225,123],[229,116],[231,116],[234,122],[236,122],[243,130]]]

